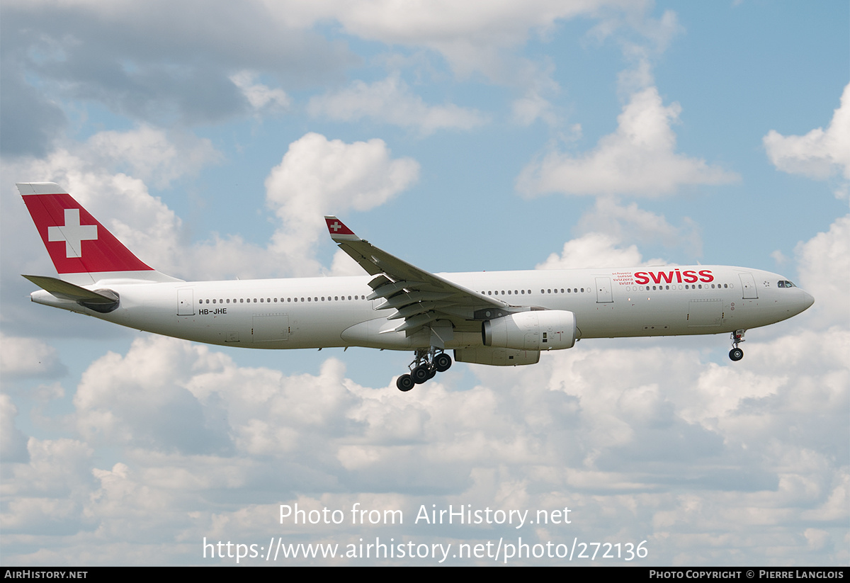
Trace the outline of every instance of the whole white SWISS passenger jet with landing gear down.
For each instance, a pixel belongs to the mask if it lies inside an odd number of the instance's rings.
[[[59,279],[24,275],[31,301],[169,337],[241,348],[412,350],[401,391],[457,362],[533,365],[602,337],[745,331],[814,303],[782,275],[723,265],[432,274],[326,217],[367,275],[184,281],[149,267],[54,183],[17,184]]]

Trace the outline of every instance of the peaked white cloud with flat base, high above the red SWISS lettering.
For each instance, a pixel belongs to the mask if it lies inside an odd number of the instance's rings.
[[[658,90],[632,95],[617,118],[618,127],[583,156],[552,152],[520,173],[517,188],[525,195],[665,195],[689,184],[723,184],[738,178],[720,167],[676,153],[680,107],[664,106]]]

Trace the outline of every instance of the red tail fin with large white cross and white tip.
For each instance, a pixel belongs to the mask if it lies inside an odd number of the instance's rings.
[[[33,182],[17,186],[63,280],[79,279],[73,274],[89,274],[93,281],[111,276],[173,279],[133,255],[58,184]]]

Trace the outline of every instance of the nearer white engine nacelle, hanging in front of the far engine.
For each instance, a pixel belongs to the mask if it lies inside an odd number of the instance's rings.
[[[561,309],[519,312],[487,320],[484,346],[515,350],[561,350],[575,344],[575,314]]]

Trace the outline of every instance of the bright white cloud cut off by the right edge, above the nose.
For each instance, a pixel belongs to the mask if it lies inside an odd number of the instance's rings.
[[[836,174],[850,179],[850,84],[829,127],[813,129],[804,136],[783,136],[776,130],[762,139],[770,161],[779,170],[825,180]],[[847,184],[836,191],[847,196]]]

